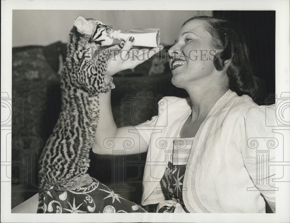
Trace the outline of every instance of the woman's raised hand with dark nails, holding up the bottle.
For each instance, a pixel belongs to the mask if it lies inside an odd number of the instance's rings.
[[[110,61],[107,67],[105,82],[110,82],[111,77],[115,73],[126,69],[133,69],[163,49],[162,45],[151,50],[132,48],[134,41],[134,37],[129,37],[120,53]]]

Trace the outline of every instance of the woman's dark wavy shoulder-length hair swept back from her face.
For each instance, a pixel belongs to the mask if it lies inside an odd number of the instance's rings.
[[[226,70],[229,89],[235,91],[239,96],[247,94],[255,100],[260,83],[254,76],[250,64],[249,49],[244,35],[235,30],[229,21],[217,17],[195,16],[185,21],[182,26],[194,19],[206,21],[204,28],[212,36],[212,46],[221,50],[216,54],[216,60],[213,61],[215,68],[219,71],[222,70],[225,61],[230,59],[229,67]]]

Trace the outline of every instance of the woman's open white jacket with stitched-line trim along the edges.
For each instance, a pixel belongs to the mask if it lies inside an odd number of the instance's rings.
[[[136,126],[149,145],[142,205],[166,199],[160,180],[173,140],[191,114],[189,98],[164,97],[158,105],[158,116]],[[195,135],[186,166],[182,196],[189,212],[264,213],[260,193],[275,202],[275,168],[268,161],[274,161],[278,142],[265,125],[266,115],[275,119],[270,110],[266,114],[265,106],[231,90],[216,102]]]

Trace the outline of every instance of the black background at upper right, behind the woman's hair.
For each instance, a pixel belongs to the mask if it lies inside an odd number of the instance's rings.
[[[260,78],[258,105],[275,93],[275,11],[213,11],[240,28],[247,40],[250,61],[255,75]]]

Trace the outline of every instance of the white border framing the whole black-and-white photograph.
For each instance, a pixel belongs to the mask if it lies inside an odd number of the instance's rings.
[[[1,92],[12,95],[12,10],[275,10],[276,11],[276,94],[289,92],[289,1],[1,1]],[[2,109],[1,109],[2,115]],[[2,132],[2,131],[1,131]],[[6,154],[2,142],[1,161]],[[11,141],[11,135],[10,139]],[[8,147],[11,146],[8,145]],[[7,148],[11,151],[11,148]],[[2,163],[1,163],[2,165]],[[1,179],[6,171],[1,166]],[[9,174],[9,173],[8,173]],[[273,214],[228,214],[228,213],[122,213],[122,214],[78,214],[73,216],[57,214],[11,214],[11,183],[1,183],[1,222],[289,222],[290,183],[277,183],[276,213]]]

